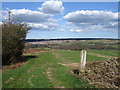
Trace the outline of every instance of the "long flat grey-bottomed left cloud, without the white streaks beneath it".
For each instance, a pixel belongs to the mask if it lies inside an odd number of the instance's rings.
[[[12,9],[13,18],[22,22],[46,22],[52,15],[29,9]]]

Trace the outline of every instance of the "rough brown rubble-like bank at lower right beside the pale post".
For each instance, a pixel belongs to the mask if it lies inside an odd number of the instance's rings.
[[[85,71],[79,72],[79,77],[87,78],[96,88],[120,88],[119,71],[120,58],[112,58],[86,64]]]

